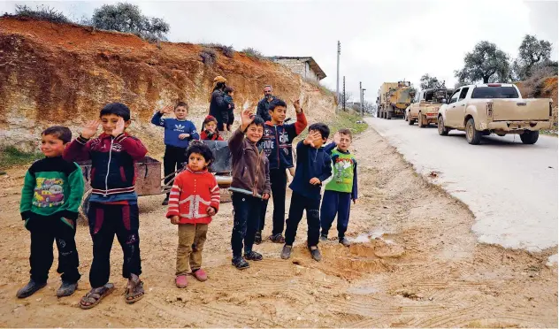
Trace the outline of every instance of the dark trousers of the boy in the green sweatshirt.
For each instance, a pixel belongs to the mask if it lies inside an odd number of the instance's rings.
[[[76,249],[75,220],[73,224],[60,216],[41,216],[33,214],[26,220],[27,230],[31,233],[31,279],[37,283],[47,282],[50,266],[54,261],[52,242],[56,241],[58,249],[57,272],[68,282],[78,282],[80,260]]]

